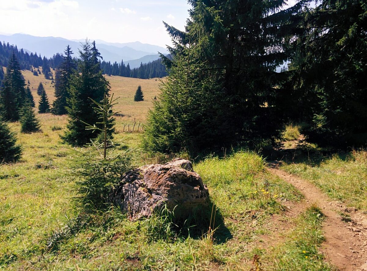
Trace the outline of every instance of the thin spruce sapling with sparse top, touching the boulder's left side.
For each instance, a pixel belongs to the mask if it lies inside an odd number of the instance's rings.
[[[91,146],[76,160],[75,169],[78,172],[76,185],[84,203],[100,207],[108,202],[108,193],[112,185],[119,182],[124,172],[131,169],[131,163],[129,151],[118,155],[111,154],[117,150],[116,145],[109,139],[109,132],[113,131],[115,126],[112,107],[116,100],[113,100],[113,95],[108,99],[105,94],[102,103],[92,101],[96,105],[94,110],[99,115],[100,121],[93,125],[85,123],[86,129],[101,133],[103,142],[91,140]]]

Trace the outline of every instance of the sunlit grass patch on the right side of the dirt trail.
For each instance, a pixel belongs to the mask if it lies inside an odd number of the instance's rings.
[[[282,169],[314,183],[331,198],[367,212],[366,151],[323,157],[321,162],[288,163]]]

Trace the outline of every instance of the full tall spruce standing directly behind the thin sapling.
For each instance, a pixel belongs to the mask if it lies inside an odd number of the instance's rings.
[[[102,75],[99,62],[101,55],[95,48],[95,42],[86,41],[79,55],[79,73],[75,74],[70,83],[68,131],[62,139],[69,144],[81,146],[96,137],[91,130],[86,130],[85,124],[99,122],[92,100],[102,101],[110,86]]]

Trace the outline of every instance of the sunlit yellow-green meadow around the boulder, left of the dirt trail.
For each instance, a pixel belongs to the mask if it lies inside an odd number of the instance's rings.
[[[51,81],[29,71],[24,76],[35,101],[39,82],[50,101],[54,99]],[[145,121],[151,99],[159,92],[159,79],[108,80],[115,97],[121,97],[115,110],[125,115],[116,117],[115,141],[133,149],[134,167],[164,162],[168,157],[148,157],[139,149],[139,132],[123,132],[134,118]],[[136,103],[133,96],[139,84],[146,101]],[[86,212],[76,200],[71,174],[78,149],[60,140],[67,116],[37,114],[37,118],[39,133],[22,134],[19,123],[10,124],[23,156],[19,163],[0,165],[0,269],[334,270],[319,251],[321,211],[315,206],[297,217],[287,216],[286,206],[301,201],[302,195],[266,171],[258,153],[237,151],[194,164],[209,188],[215,219],[210,221],[208,208],[180,228],[159,216],[131,222],[112,206]],[[285,168],[302,172],[293,165]],[[308,178],[307,174],[301,176]],[[282,228],[283,223],[291,227]],[[281,238],[271,241],[275,234]],[[262,269],[251,269],[260,264]]]

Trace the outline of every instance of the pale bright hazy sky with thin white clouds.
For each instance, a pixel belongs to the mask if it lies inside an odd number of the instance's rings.
[[[186,0],[0,0],[0,32],[165,46],[162,21],[183,29],[189,8]]]

